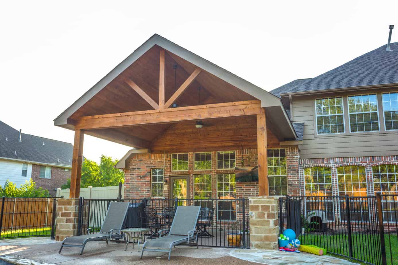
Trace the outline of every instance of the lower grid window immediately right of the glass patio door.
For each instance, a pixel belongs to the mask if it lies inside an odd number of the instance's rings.
[[[194,205],[212,208],[211,201],[211,174],[193,175],[193,199]],[[202,201],[203,200],[203,201]]]

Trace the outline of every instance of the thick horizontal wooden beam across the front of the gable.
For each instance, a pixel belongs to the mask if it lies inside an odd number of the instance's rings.
[[[209,105],[155,109],[81,117],[75,129],[106,129],[180,121],[256,115],[261,113],[259,100],[217,103]]]

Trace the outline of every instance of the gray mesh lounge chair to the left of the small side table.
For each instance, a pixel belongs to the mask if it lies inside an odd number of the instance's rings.
[[[125,235],[121,233],[123,222],[125,220],[127,210],[129,209],[130,203],[116,203],[111,202],[103,220],[101,230],[98,234],[90,234],[90,230],[96,229],[88,228],[89,234],[82,236],[70,236],[62,241],[61,248],[58,253],[61,253],[62,247],[81,247],[80,255],[82,255],[84,247],[87,242],[105,240],[108,244],[108,240],[111,239],[123,239],[126,241]]]

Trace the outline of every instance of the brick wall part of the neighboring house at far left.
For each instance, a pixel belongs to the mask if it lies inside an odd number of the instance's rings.
[[[55,197],[57,188],[66,183],[66,179],[70,179],[71,171],[65,171],[64,168],[51,167],[51,179],[39,177],[40,166],[32,165],[32,180],[36,182],[37,187],[48,189],[50,196]]]

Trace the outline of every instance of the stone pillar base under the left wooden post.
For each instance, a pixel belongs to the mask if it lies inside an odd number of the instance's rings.
[[[79,199],[58,199],[55,240],[62,241],[68,236],[77,236],[78,210]]]

